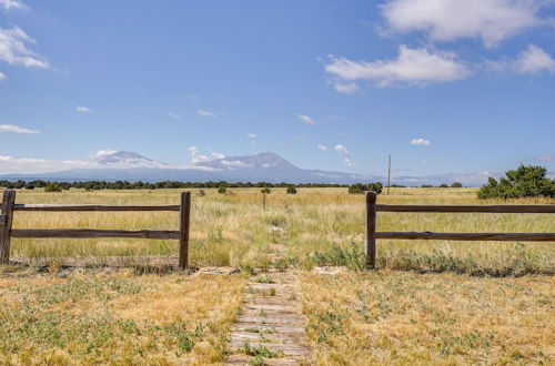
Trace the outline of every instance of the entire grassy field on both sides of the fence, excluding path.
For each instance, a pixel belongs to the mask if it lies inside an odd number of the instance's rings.
[[[194,195],[193,266],[71,270],[61,257],[176,255],[176,241],[12,240],[12,257],[60,257],[0,271],[6,364],[221,364],[246,274],[296,268],[315,365],[553,364],[553,243],[377,241],[362,268],[364,197],[346,189]],[[19,191],[17,203],[175,204],[180,191]],[[473,189],[393,189],[391,204],[481,204]],[[505,203],[505,202],[495,202]],[[521,200],[506,203],[554,203]],[[176,230],[178,213],[16,212],[14,228]],[[552,214],[379,213],[377,231],[554,232]],[[102,260],[100,260],[101,262]],[[176,257],[174,263],[176,264]],[[342,266],[335,274],[315,266]],[[155,268],[154,268],[155,271]],[[147,272],[147,274],[141,274]],[[265,277],[263,277],[265,278]],[[248,287],[248,286],[246,286]]]

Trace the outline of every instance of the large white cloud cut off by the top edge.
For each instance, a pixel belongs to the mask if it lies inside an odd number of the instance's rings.
[[[389,0],[382,8],[394,32],[423,31],[433,41],[482,39],[486,47],[523,30],[546,24],[545,0]]]

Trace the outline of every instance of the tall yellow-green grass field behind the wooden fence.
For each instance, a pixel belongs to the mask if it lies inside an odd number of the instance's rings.
[[[262,207],[258,189],[221,195],[193,191],[191,262],[242,268],[269,265],[270,243],[287,246],[287,261],[303,268],[347,265],[359,268],[364,230],[364,199],[346,189],[301,189],[299,194],[273,190]],[[18,203],[175,204],[180,192],[42,191],[18,192]],[[483,202],[475,189],[392,189],[379,196],[391,204],[554,203],[555,200]],[[176,230],[176,213],[44,213],[18,212],[14,228]],[[377,231],[554,232],[551,214],[379,213]],[[175,255],[175,241],[13,240],[14,257]],[[551,243],[379,241],[381,268],[467,273],[476,275],[553,274]]]

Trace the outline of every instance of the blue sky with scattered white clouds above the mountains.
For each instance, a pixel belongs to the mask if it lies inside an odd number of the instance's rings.
[[[554,141],[551,0],[0,0],[0,173],[105,150],[554,171]]]

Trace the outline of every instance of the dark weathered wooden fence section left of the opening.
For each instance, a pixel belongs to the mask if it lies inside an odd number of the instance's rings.
[[[92,228],[18,228],[12,230],[14,211],[47,212],[125,212],[125,211],[176,211],[180,213],[179,231],[170,230],[92,230]],[[181,193],[179,205],[112,206],[112,205],[63,205],[63,204],[16,204],[16,191],[4,191],[0,215],[0,263],[10,261],[11,237],[137,237],[155,240],[179,240],[179,266],[189,266],[189,226],[191,216],[191,192]]]

